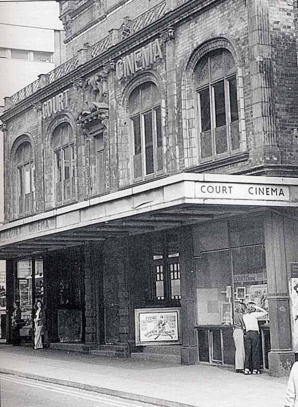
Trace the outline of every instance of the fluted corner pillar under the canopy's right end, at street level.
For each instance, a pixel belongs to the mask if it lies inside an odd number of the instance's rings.
[[[269,213],[264,219],[264,238],[270,317],[269,372],[288,375],[295,361],[291,344],[283,217]]]

